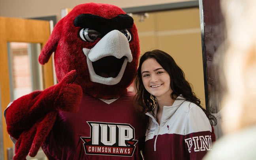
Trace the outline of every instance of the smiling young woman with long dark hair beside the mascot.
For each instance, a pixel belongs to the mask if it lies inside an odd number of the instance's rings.
[[[148,118],[145,160],[199,160],[211,150],[216,118],[169,54],[153,50],[141,57],[136,88],[135,103]]]

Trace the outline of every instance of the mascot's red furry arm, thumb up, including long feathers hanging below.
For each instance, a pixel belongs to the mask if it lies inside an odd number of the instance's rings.
[[[60,83],[35,91],[13,101],[7,110],[7,130],[18,141],[14,160],[36,156],[51,131],[58,110],[77,112],[82,98],[81,86],[73,84],[76,71],[69,72]]]

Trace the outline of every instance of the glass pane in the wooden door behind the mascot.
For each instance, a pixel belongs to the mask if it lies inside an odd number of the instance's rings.
[[[40,44],[8,43],[11,101],[42,89],[42,71],[37,61],[40,50]]]

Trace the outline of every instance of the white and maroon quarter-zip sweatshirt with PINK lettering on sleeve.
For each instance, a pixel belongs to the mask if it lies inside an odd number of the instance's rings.
[[[153,112],[156,115],[158,105]],[[196,104],[181,95],[164,106],[160,125],[151,113],[145,138],[145,160],[200,160],[211,150],[211,125]]]

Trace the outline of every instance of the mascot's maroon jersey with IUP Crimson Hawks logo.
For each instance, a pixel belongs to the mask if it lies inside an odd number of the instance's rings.
[[[49,160],[137,160],[145,131],[128,92],[107,104],[83,94],[79,111],[59,112],[43,143]]]

